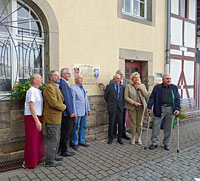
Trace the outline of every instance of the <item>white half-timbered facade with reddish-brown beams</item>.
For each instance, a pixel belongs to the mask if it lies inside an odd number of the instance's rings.
[[[169,72],[181,98],[195,97],[196,0],[171,0]]]

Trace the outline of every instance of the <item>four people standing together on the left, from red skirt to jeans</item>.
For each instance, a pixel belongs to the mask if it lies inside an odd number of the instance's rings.
[[[40,162],[47,167],[60,166],[65,156],[73,156],[75,152],[68,150],[68,139],[73,122],[72,148],[79,145],[88,147],[85,142],[87,115],[90,105],[83,77],[75,75],[75,84],[70,88],[67,81],[71,77],[70,69],[59,72],[52,70],[48,74],[49,83],[43,95],[39,89],[42,77],[33,74],[29,81],[30,89],[25,100],[25,152],[23,167],[33,169]],[[46,127],[46,149],[42,134],[42,122]]]

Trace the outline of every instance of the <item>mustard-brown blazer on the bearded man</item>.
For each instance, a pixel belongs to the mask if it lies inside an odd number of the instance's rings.
[[[49,82],[43,92],[43,121],[48,124],[61,124],[62,112],[66,109],[60,89]]]

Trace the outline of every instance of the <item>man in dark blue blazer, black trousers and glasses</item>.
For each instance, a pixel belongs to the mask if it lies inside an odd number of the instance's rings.
[[[74,152],[68,151],[67,144],[70,134],[72,118],[76,119],[77,117],[74,115],[72,93],[67,83],[67,81],[69,81],[71,77],[70,70],[68,68],[63,68],[60,74],[61,74],[61,79],[59,86],[64,97],[64,104],[66,105],[66,109],[63,111],[62,114],[59,152],[61,152],[61,156],[65,157],[65,156],[73,156],[75,154]]]

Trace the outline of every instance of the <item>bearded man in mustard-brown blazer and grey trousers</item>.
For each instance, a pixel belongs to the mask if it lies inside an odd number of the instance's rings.
[[[63,104],[63,95],[59,89],[59,73],[56,70],[49,72],[49,83],[44,89],[43,100],[43,121],[47,132],[47,154],[45,166],[56,167],[61,164],[58,161],[63,157],[58,156],[58,146],[60,141],[60,128],[62,112],[66,109]]]

